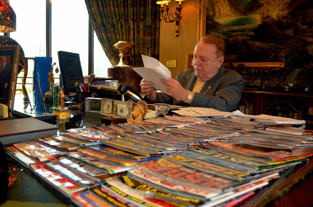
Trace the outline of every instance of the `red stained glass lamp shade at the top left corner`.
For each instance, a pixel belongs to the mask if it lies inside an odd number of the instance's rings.
[[[6,0],[0,0],[0,32],[8,33],[16,30],[16,15]]]

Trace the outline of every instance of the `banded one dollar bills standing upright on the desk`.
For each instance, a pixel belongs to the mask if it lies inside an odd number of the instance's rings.
[[[112,105],[112,99],[108,98],[101,98],[101,102],[100,114],[106,116],[113,114],[115,118],[131,119],[131,102],[113,100]]]

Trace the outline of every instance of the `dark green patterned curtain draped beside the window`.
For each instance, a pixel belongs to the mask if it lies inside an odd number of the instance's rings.
[[[131,61],[143,66],[141,54],[159,58],[160,23],[155,0],[85,0],[90,21],[112,65],[120,61],[118,41],[135,43]]]

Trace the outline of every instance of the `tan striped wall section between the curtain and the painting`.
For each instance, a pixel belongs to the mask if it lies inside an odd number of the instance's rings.
[[[175,1],[170,2],[169,6],[169,11],[175,10]],[[193,53],[198,42],[199,0],[182,1],[182,6],[178,37],[175,35],[175,22],[166,23],[162,20],[160,25],[159,61],[166,66],[167,60],[176,59],[176,68],[168,68],[171,70],[172,78],[185,69],[187,53]]]

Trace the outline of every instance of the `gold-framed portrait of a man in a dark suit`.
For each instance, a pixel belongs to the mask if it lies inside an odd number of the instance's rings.
[[[0,46],[0,103],[8,109],[13,109],[20,53],[20,45]]]

